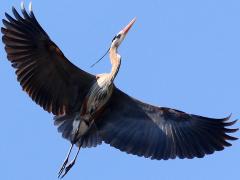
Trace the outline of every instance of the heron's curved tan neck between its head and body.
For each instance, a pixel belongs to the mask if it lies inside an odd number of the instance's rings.
[[[120,68],[121,57],[117,53],[117,48],[115,46],[110,48],[109,54],[110,54],[110,61],[111,61],[111,64],[112,64],[112,69],[111,69],[111,72],[110,72],[110,78],[111,78],[111,81],[113,81],[115,79],[117,73],[118,73],[119,68]]]

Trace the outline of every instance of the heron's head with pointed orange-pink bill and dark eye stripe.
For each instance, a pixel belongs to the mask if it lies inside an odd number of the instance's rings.
[[[111,48],[113,48],[113,47],[118,48],[119,47],[119,45],[122,43],[122,41],[126,37],[128,31],[131,29],[131,27],[132,27],[132,25],[134,24],[135,21],[136,21],[136,18],[134,18],[116,36],[114,36],[114,38],[112,40]]]

